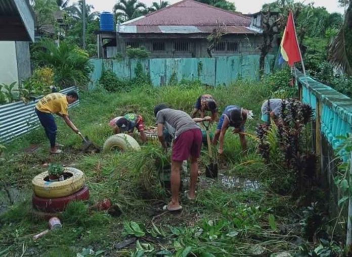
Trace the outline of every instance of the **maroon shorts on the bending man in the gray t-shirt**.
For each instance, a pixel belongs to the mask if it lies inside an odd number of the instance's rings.
[[[190,129],[179,135],[172,146],[172,161],[182,162],[191,156],[199,158],[203,135],[200,129]]]

